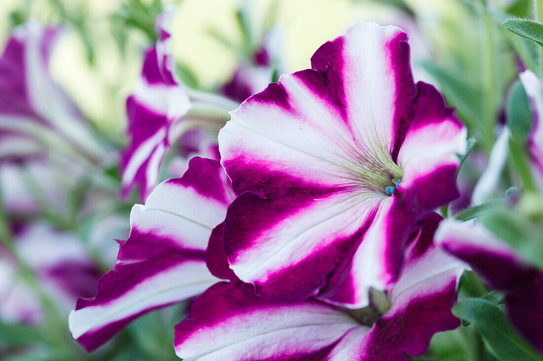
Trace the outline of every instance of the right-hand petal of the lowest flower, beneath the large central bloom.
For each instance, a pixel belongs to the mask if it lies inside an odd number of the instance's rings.
[[[425,217],[420,234],[406,248],[400,278],[388,292],[390,310],[351,346],[347,359],[407,361],[411,358],[405,353],[420,356],[435,333],[460,325],[451,308],[464,265],[432,243],[441,219],[435,213]]]

